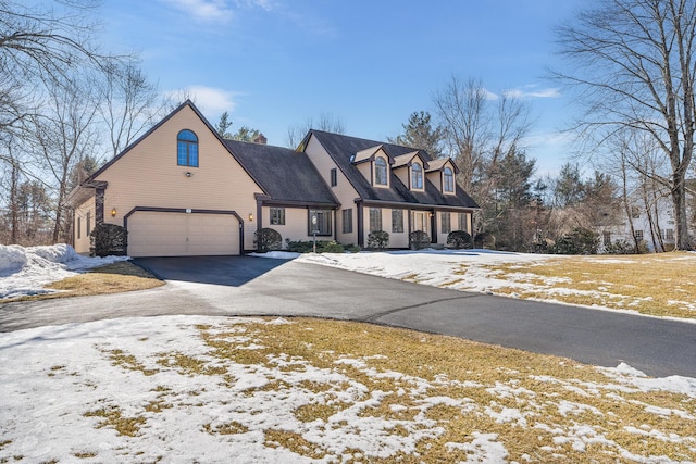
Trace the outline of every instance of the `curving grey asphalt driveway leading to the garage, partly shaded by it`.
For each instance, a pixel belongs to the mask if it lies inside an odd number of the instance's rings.
[[[158,289],[0,305],[0,331],[164,314],[318,316],[696,377],[696,324],[521,301],[249,256],[148,258]]]

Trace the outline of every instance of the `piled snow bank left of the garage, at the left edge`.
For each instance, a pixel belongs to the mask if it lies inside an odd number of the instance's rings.
[[[77,254],[70,244],[21,247],[0,244],[0,300],[29,294],[51,293],[44,288],[92,267],[127,256],[88,258]]]

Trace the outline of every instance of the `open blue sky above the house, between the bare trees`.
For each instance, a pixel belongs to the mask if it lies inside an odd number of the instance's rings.
[[[569,101],[546,79],[559,66],[552,27],[583,0],[120,0],[103,7],[110,51],[137,51],[163,92],[188,88],[211,123],[260,129],[330,113],[348,135],[385,140],[452,76],[519,92],[536,117],[537,174],[569,154]]]

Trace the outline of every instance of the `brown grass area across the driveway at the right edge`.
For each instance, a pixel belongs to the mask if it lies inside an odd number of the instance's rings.
[[[496,293],[696,318],[696,253],[569,256],[485,266],[510,281]]]

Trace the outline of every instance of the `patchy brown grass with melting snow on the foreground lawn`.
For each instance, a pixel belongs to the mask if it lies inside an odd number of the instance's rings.
[[[179,331],[187,340],[182,347],[202,349],[179,351],[172,341],[163,350],[148,337],[115,337],[108,348],[95,346],[99,363],[112,366],[109,378],[96,380],[79,362],[47,372],[55,388],[69,389],[66,396],[86,379],[100,391],[128,378],[139,386],[129,396],[102,392],[98,402],[83,404],[84,421],[98,418],[95,428],[112,430],[111,448],[125,461],[157,461],[138,456],[142,449],[166,453],[170,443],[158,430],[167,424],[178,427],[176,434],[208,435],[206,440],[231,447],[260,432],[266,448],[315,459],[332,454],[332,435],[373,440],[374,448],[344,448],[343,459],[330,462],[501,462],[478,461],[475,440],[504,447],[505,462],[696,459],[696,398],[670,391],[664,380],[362,323],[220,318],[182,324]],[[285,425],[273,425],[268,414],[284,417]],[[394,440],[414,447],[371,454]],[[0,457],[2,451],[0,443]]]

